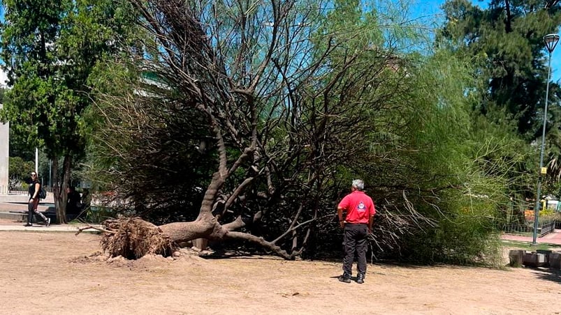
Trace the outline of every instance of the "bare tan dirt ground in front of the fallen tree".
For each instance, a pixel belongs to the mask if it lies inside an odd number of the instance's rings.
[[[548,269],[340,263],[268,256],[106,261],[92,233],[0,232],[0,314],[561,314]]]

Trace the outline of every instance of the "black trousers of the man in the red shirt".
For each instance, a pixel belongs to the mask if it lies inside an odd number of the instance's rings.
[[[356,269],[358,274],[366,273],[366,252],[368,236],[368,226],[366,224],[345,224],[344,229],[344,258],[343,273],[345,275],[353,274],[353,261],[356,253],[358,263]]]

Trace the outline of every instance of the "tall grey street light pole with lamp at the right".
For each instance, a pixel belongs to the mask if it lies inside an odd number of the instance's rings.
[[[549,98],[549,77],[551,75],[551,53],[559,41],[559,35],[548,34],[544,36],[544,43],[546,43],[547,51],[549,52],[549,59],[547,65],[547,87],[546,87],[546,107],[544,109],[544,128],[541,131],[541,153],[539,153],[539,174],[538,174],[538,193],[536,195],[536,208],[534,208],[534,237],[532,238],[532,245],[536,245],[538,220],[539,220],[539,206],[541,206],[541,176],[547,174],[547,169],[544,169],[544,146],[546,143],[546,121],[547,121],[547,101]]]

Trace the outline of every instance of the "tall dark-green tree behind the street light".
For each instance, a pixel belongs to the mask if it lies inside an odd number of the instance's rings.
[[[481,101],[474,111],[485,116],[498,128],[512,132],[516,151],[507,149],[501,154],[486,157],[494,161],[519,161],[509,176],[505,194],[516,199],[533,198],[538,171],[539,141],[548,69],[543,37],[558,30],[561,12],[556,1],[493,0],[487,8],[479,8],[469,1],[447,1],[443,10],[446,23],[439,36],[448,40],[458,54],[476,56],[475,74],[486,84],[477,87]],[[558,172],[559,86],[550,84],[547,122],[546,163]],[[475,118],[478,121],[479,118]],[[530,144],[530,146],[528,146]],[[497,152],[495,152],[497,153]],[[525,156],[520,159],[520,156]],[[520,176],[520,174],[532,174]],[[516,178],[516,180],[514,180]],[[552,181],[553,180],[553,181]],[[549,185],[554,185],[554,176]]]

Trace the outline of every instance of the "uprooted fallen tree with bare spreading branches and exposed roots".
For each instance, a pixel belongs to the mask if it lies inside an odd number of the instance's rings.
[[[112,255],[168,241],[158,250],[169,254],[206,238],[295,259],[335,238],[335,203],[380,165],[387,181],[372,187],[382,201],[373,248],[399,252],[402,236],[437,225],[442,212],[414,205],[438,209],[438,192],[456,188],[442,180],[448,174],[414,165],[414,144],[402,146],[418,129],[407,114],[423,109],[407,60],[380,48],[377,17],[317,1],[131,3],[140,48],[108,64],[95,90],[91,174],[153,224],[112,222]],[[123,237],[129,229],[147,235]],[[135,243],[152,237],[156,246]]]

